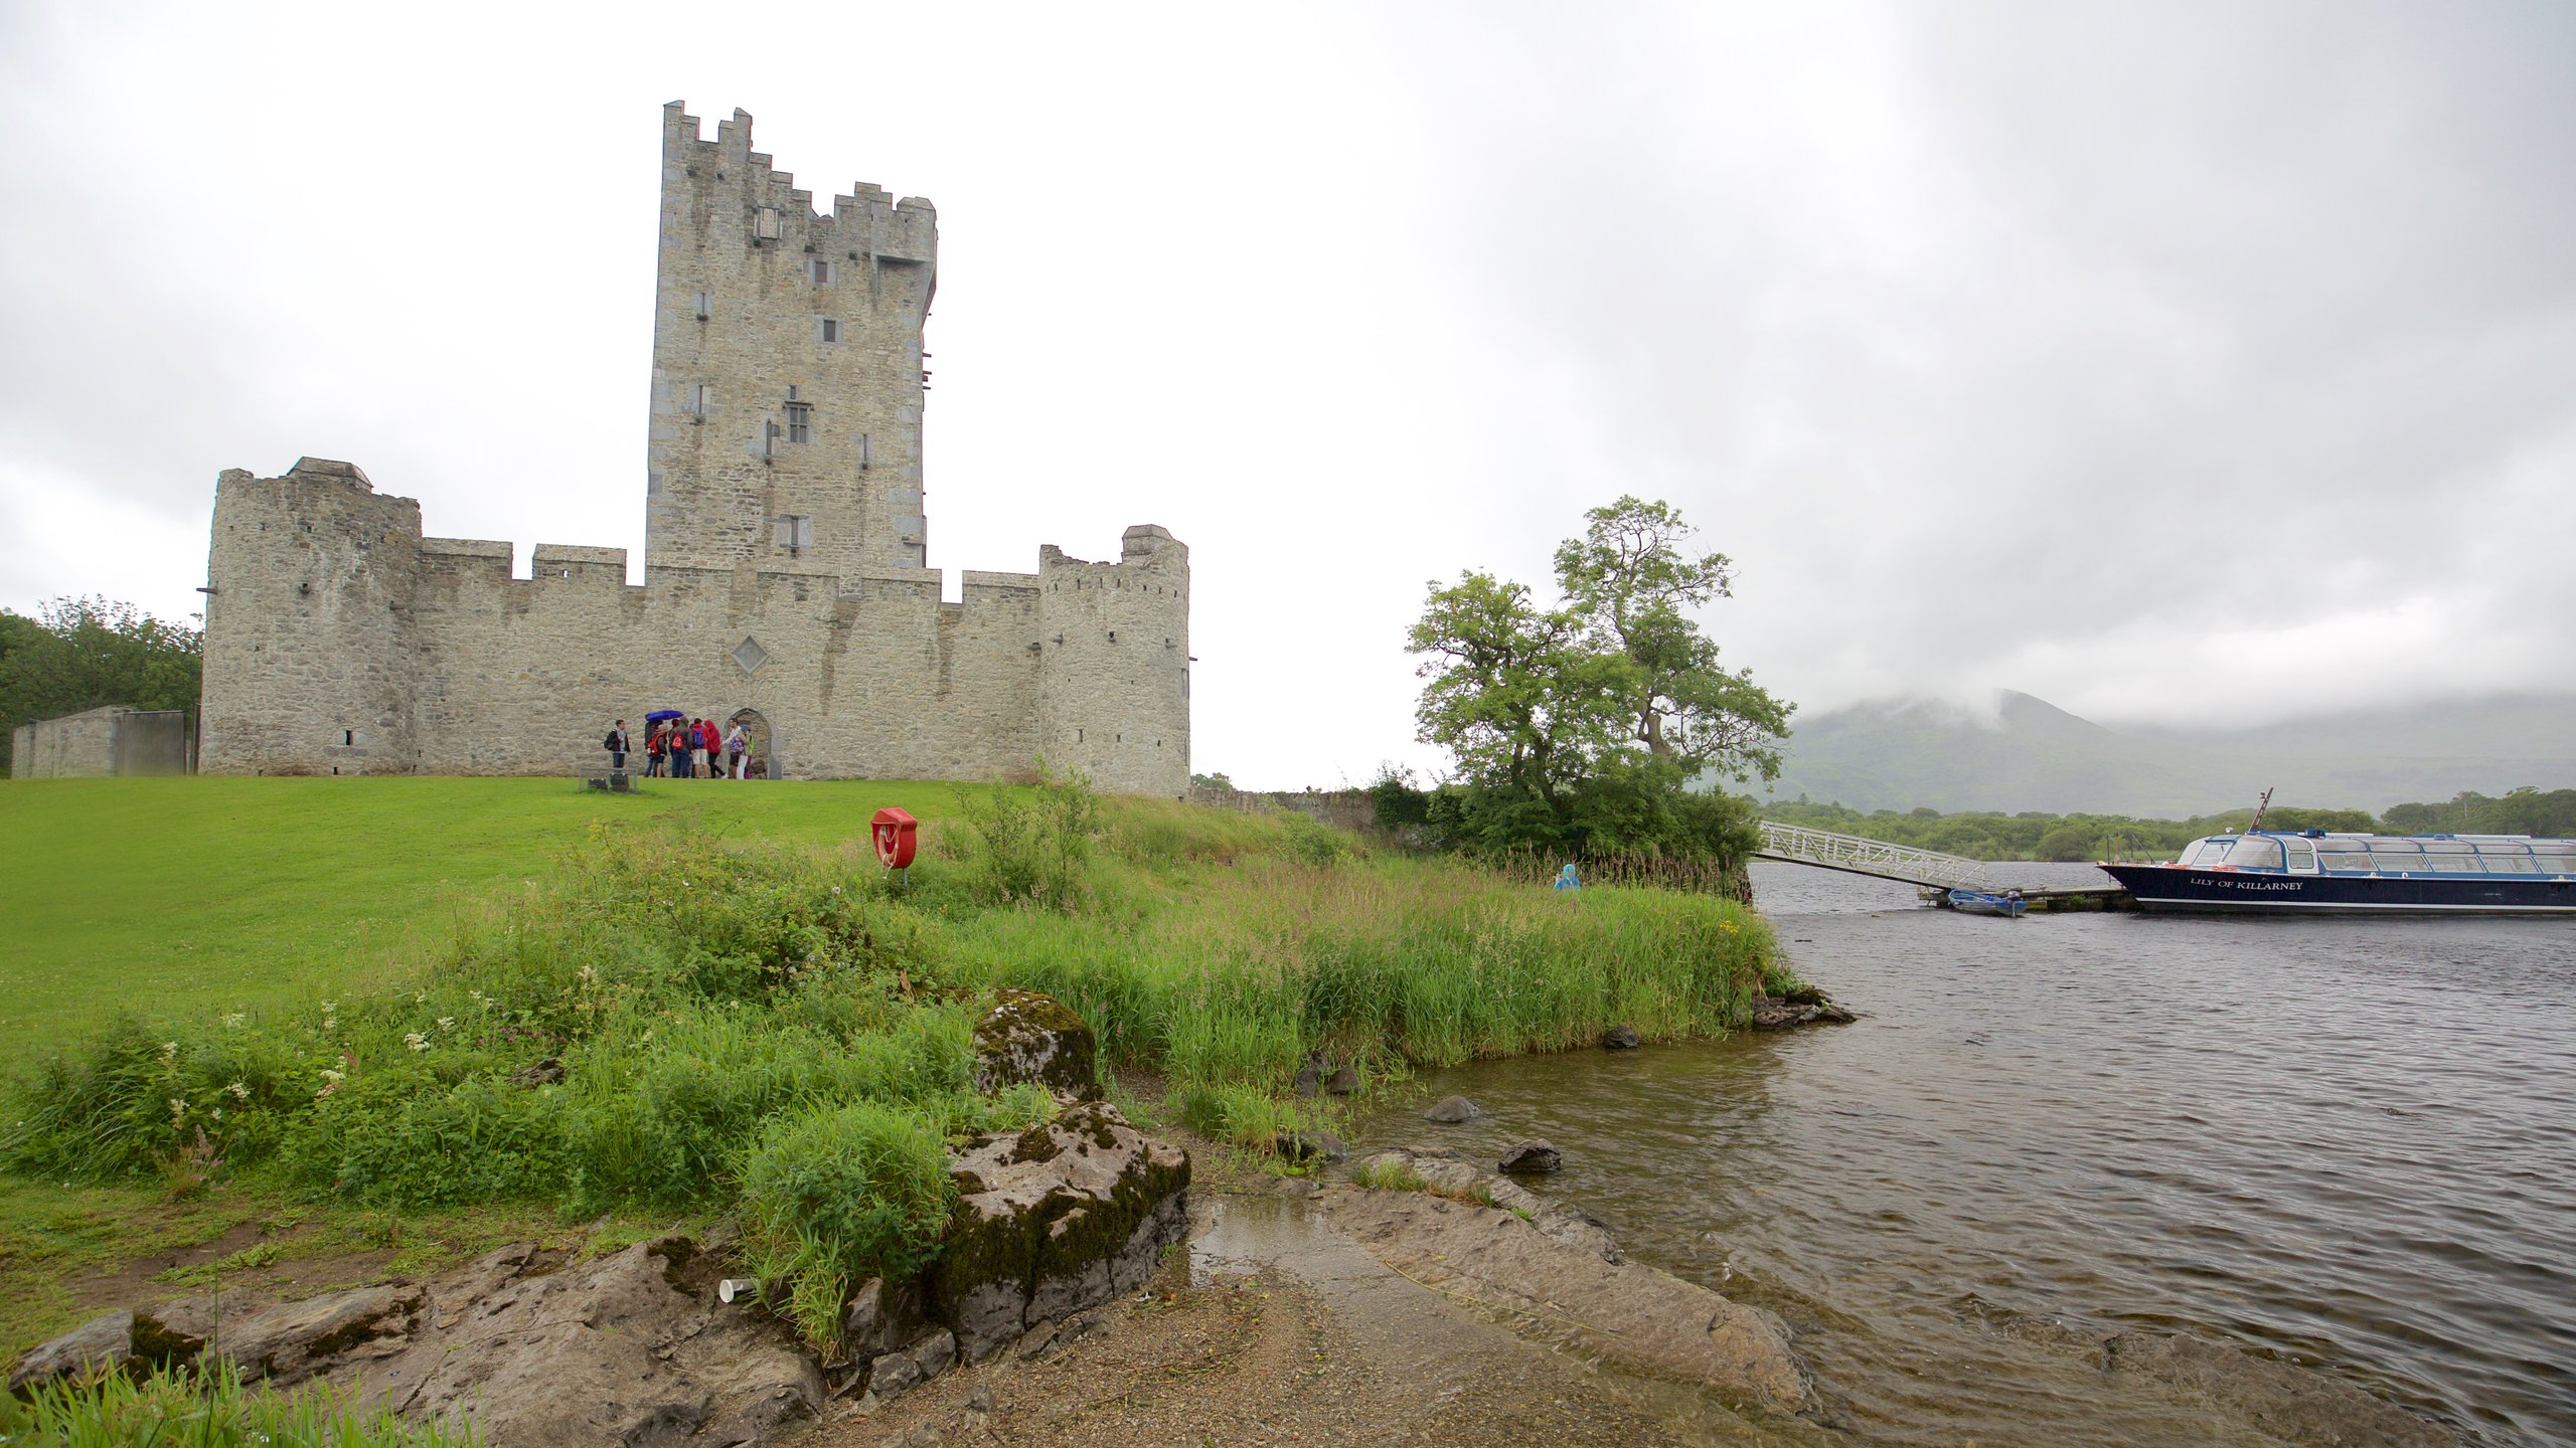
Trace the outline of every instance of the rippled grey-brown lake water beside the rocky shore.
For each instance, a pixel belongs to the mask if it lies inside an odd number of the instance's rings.
[[[2264,1443],[2115,1389],[2053,1324],[2576,1443],[2576,922],[1984,920],[1803,866],[1754,889],[1857,1025],[1435,1072],[1414,1095],[1486,1118],[1414,1100],[1365,1136],[1551,1139],[1546,1190],[1780,1311],[1855,1443]]]

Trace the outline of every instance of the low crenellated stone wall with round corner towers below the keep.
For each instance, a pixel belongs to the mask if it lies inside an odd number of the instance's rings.
[[[783,778],[1018,778],[1046,755],[1108,791],[1188,791],[1188,549],[1162,528],[1131,528],[1118,564],[969,572],[940,603],[935,569],[634,587],[621,549],[554,544],[513,580],[507,544],[417,518],[348,464],[224,474],[206,773],[577,773],[613,719],[641,742],[647,709],[757,709]]]

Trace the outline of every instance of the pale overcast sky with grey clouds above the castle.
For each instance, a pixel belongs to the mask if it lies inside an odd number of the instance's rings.
[[[659,106],[940,209],[930,562],[1193,549],[1195,765],[1672,500],[1808,711],[2576,680],[2576,5],[0,3],[0,605],[214,474],[644,549]]]

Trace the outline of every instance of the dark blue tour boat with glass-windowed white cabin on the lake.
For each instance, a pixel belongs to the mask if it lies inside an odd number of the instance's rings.
[[[2154,912],[2576,915],[2576,840],[2530,835],[2246,830],[2102,868]]]

